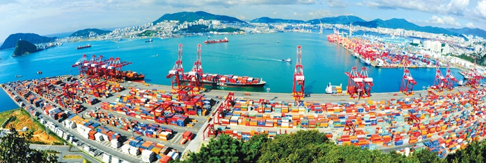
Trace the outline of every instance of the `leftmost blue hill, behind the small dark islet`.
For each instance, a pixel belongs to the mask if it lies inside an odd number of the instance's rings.
[[[32,44],[40,44],[53,42],[57,38],[58,37],[45,37],[35,33],[15,33],[7,37],[7,39],[0,46],[0,50],[14,48],[19,40],[25,40]]]

